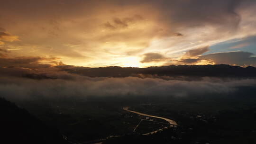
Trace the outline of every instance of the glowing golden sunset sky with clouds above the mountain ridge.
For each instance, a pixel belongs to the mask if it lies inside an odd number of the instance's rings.
[[[256,66],[255,0],[0,0],[0,67]]]

